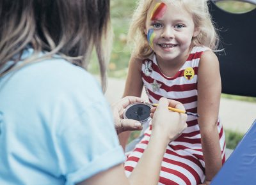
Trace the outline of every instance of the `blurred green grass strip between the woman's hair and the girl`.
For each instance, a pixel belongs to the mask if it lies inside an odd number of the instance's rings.
[[[113,27],[113,50],[108,64],[108,76],[125,78],[130,58],[130,50],[127,47],[127,31],[132,18],[136,0],[111,0],[111,25]],[[95,54],[88,70],[94,74],[99,73]]]

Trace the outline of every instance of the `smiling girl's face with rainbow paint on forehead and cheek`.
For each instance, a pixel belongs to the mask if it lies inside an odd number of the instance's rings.
[[[156,52],[157,61],[186,60],[195,28],[193,17],[182,6],[154,1],[147,13],[145,34],[150,47]]]

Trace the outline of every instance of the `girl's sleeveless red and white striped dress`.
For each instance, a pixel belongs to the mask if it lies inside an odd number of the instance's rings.
[[[144,59],[141,75],[148,98],[157,103],[161,97],[180,101],[188,112],[197,112],[197,72],[200,56],[209,48],[194,47],[187,61],[174,77],[166,77],[157,65],[156,56]],[[184,71],[193,68],[195,76],[187,79]],[[170,142],[164,154],[159,184],[200,184],[205,179],[201,135],[196,117],[188,116],[188,128],[175,141]],[[225,134],[218,122],[222,161],[225,161]],[[135,149],[127,156],[125,173],[129,176],[147,147],[151,125]]]

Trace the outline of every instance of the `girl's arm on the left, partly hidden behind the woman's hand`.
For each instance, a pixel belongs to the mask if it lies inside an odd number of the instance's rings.
[[[141,91],[143,87],[143,82],[141,78],[141,65],[142,65],[142,62],[140,59],[131,57],[129,62],[128,75],[125,82],[123,97],[125,96],[140,97],[141,96]],[[125,131],[123,133],[120,133],[120,135],[118,135],[120,144],[124,149],[130,134],[131,134],[131,131]]]

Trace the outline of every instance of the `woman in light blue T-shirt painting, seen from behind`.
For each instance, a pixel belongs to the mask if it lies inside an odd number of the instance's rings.
[[[0,0],[0,27],[0,184],[156,184],[166,145],[186,128],[186,115],[167,107],[184,107],[159,101],[150,144],[127,179],[113,115],[86,71],[95,47],[104,89],[109,1]],[[116,130],[128,129],[120,118],[134,101],[114,106]],[[159,152],[149,155],[153,145]]]

